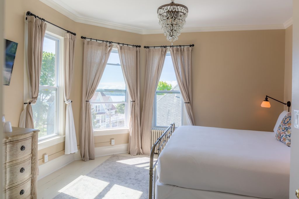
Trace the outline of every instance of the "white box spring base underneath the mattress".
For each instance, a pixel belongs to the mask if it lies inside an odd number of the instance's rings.
[[[155,199],[265,199],[223,192],[188,189],[180,186],[156,182]]]

